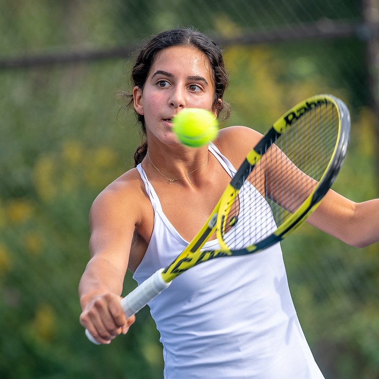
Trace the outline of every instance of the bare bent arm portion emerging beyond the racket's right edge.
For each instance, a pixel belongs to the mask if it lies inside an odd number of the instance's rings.
[[[349,245],[370,245],[379,241],[379,199],[356,203],[330,189],[308,223]]]

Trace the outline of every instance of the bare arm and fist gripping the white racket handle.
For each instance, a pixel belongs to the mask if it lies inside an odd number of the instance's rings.
[[[91,259],[79,283],[80,323],[99,343],[110,343],[134,322],[134,316],[126,319],[120,305],[139,214],[125,187],[112,184],[90,211]]]

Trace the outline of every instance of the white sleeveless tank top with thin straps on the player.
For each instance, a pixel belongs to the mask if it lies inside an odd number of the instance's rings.
[[[209,151],[230,176],[236,172],[212,143]],[[152,237],[133,275],[141,284],[189,241],[163,213],[141,164],[137,170],[154,210]],[[204,248],[217,246],[208,241]],[[279,243],[190,268],[149,306],[163,344],[165,379],[324,378],[296,315]]]

